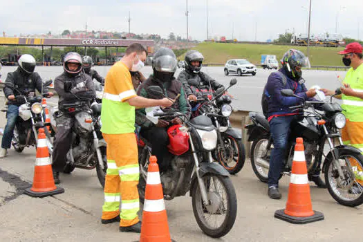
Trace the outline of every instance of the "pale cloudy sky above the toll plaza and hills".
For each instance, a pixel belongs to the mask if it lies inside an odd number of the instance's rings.
[[[363,1],[311,2],[312,34],[335,33],[337,28],[344,37],[363,39]],[[84,30],[87,23],[88,30],[127,32],[130,12],[131,32],[187,37],[187,6],[192,39],[207,39],[207,26],[210,38],[239,41],[307,33],[308,0],[1,0],[0,30],[7,36],[60,34],[66,29]]]

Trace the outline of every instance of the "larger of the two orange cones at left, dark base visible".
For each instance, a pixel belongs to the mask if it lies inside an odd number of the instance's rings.
[[[24,191],[24,194],[42,198],[64,193],[62,187],[56,187],[53,179],[52,163],[50,162],[46,134],[44,129],[39,129],[37,143],[37,158],[35,160],[34,179],[32,187]]]

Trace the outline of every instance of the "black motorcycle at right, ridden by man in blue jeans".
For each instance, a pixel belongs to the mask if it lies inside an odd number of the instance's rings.
[[[282,90],[281,94],[299,97],[292,90]],[[335,95],[337,94],[339,94],[338,90]],[[323,164],[322,171],[326,185],[335,201],[349,207],[361,205],[363,203],[363,183],[357,179],[357,173],[363,169],[363,156],[360,149],[343,144],[339,129],[345,126],[346,118],[341,106],[332,100],[330,102],[308,102],[302,99],[301,102],[302,104],[290,107],[292,111],[301,113],[301,115],[297,116],[290,127],[288,152],[281,176],[290,175],[295,140],[301,137],[304,139],[308,173],[309,171],[319,171]],[[320,110],[315,109],[314,104],[318,104]],[[252,112],[250,118],[252,124],[246,126],[246,129],[248,129],[248,141],[252,142],[251,165],[254,174],[259,180],[266,183],[270,167],[270,154],[273,149],[270,125],[262,114]],[[326,142],[329,145],[328,150],[325,147]]]

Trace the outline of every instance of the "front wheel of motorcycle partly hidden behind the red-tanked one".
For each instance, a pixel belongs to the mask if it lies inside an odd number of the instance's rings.
[[[230,174],[236,174],[245,165],[245,147],[241,139],[232,136],[222,136],[222,139],[223,144],[218,144],[217,147],[218,162]],[[224,146],[225,151],[223,151],[221,145]]]

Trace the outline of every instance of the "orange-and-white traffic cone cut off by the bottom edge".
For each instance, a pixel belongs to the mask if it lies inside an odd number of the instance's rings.
[[[150,157],[147,170],[147,185],[145,190],[144,212],[140,242],[170,242],[167,211],[165,210],[164,195],[160,182],[159,167],[156,157]]]

